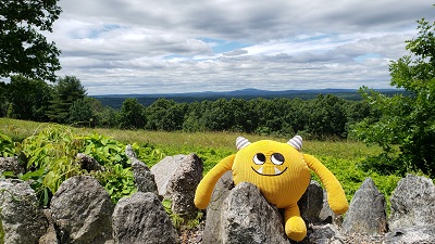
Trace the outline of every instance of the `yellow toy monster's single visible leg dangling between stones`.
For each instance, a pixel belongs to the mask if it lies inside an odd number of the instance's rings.
[[[307,227],[300,217],[297,204],[285,208],[284,211],[285,232],[294,241],[302,241],[307,235]]]

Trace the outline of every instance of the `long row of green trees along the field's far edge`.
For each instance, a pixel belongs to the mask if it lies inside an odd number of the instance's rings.
[[[35,121],[164,131],[237,131],[311,138],[347,138],[351,125],[373,117],[364,101],[333,94],[301,99],[219,99],[175,102],[159,99],[145,106],[135,98],[125,99],[120,110],[103,106],[86,94],[74,76],[54,84],[23,76],[1,84],[0,116]]]

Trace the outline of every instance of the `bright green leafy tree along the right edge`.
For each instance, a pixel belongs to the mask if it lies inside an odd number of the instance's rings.
[[[388,98],[365,89],[365,100],[381,117],[365,118],[356,132],[366,143],[383,149],[381,155],[369,160],[369,166],[435,176],[435,22],[431,25],[423,18],[418,24],[418,37],[406,41],[410,53],[389,65],[390,85],[411,95]],[[398,144],[398,152],[394,144]]]

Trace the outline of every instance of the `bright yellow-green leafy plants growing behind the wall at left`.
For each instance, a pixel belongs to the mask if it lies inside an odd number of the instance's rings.
[[[77,175],[96,177],[108,190],[114,203],[136,192],[125,145],[112,138],[98,133],[77,136],[71,127],[49,126],[13,147],[14,143],[8,136],[2,136],[0,145],[2,149],[8,149],[4,152],[21,155],[20,158],[25,165],[26,172],[16,177],[32,180],[32,188],[44,206],[49,205],[52,195],[63,181]],[[144,147],[135,144],[135,149],[140,158],[157,160],[164,156],[150,145]],[[103,166],[103,170],[83,169],[76,159],[77,153],[94,157]],[[11,177],[11,172],[5,172],[3,177]]]

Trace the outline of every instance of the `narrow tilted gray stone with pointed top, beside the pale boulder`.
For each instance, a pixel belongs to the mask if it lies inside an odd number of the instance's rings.
[[[125,154],[132,162],[133,177],[138,192],[158,193],[154,175],[151,174],[148,166],[139,160],[130,144],[125,147]]]

